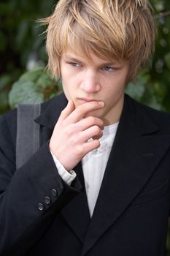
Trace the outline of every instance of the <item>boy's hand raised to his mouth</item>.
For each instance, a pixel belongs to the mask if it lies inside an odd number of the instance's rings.
[[[100,146],[98,139],[103,134],[104,123],[101,118],[87,115],[101,108],[104,108],[104,102],[87,102],[75,108],[70,100],[61,112],[49,145],[66,170],[72,170],[82,157]]]

